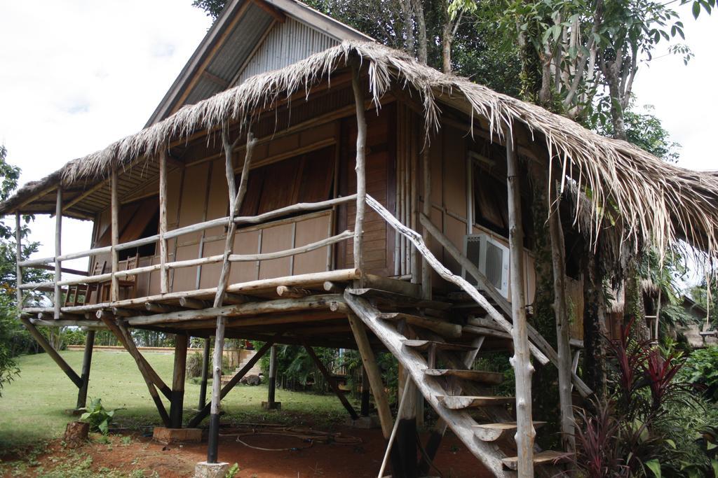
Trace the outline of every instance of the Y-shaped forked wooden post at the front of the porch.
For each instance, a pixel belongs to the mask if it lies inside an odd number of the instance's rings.
[[[256,145],[256,139],[251,130],[247,132],[246,154],[244,158],[244,166],[242,168],[242,176],[239,188],[235,191],[234,168],[232,162],[232,150],[236,146],[237,140],[230,143],[228,138],[228,128],[222,130],[222,143],[225,151],[225,173],[227,176],[227,186],[229,190],[229,206],[230,214],[227,228],[227,238],[225,240],[224,258],[222,269],[220,270],[220,280],[217,285],[217,293],[215,294],[214,307],[221,307],[224,302],[225,292],[229,282],[229,274],[232,263],[229,262],[229,256],[232,254],[234,247],[234,234],[237,230],[237,224],[234,218],[239,214],[244,195],[247,191],[247,182],[249,181],[249,167],[251,164],[252,153]],[[236,194],[236,196],[235,196]],[[224,315],[217,316],[217,328],[215,331],[215,354],[213,357],[212,370],[212,405],[210,407],[210,430],[208,436],[207,462],[217,463],[217,448],[220,433],[220,393],[222,392],[222,355],[224,350],[224,335],[227,317]]]

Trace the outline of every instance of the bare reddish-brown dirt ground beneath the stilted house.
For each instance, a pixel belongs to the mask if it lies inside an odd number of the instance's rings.
[[[337,427],[341,436],[361,439],[360,444],[319,444],[296,451],[259,451],[248,448],[236,441],[236,431],[225,430],[220,439],[220,461],[237,463],[241,478],[314,478],[314,477],[376,477],[383,458],[383,439],[379,430],[358,430]],[[422,437],[424,440],[426,436]],[[253,435],[243,436],[243,441],[261,448],[302,448],[306,443],[292,436]],[[122,444],[120,436],[111,437],[111,445],[87,444],[76,449],[81,454],[93,457],[92,468],[103,467],[130,474],[134,470],[147,470],[146,474],[157,472],[160,477],[191,477],[195,463],[206,458],[207,444],[164,446],[149,438],[133,436],[130,444]],[[59,442],[52,444],[47,454],[38,457],[39,466],[52,469],[58,457],[67,454]],[[491,475],[482,467],[452,435],[442,441],[435,462],[446,478],[482,478]],[[33,468],[25,476],[36,476]],[[437,474],[437,473],[434,473]],[[155,475],[157,476],[157,475]]]

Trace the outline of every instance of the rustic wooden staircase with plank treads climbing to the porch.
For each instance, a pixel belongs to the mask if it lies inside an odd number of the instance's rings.
[[[462,326],[441,317],[427,316],[422,305],[434,310],[445,310],[441,303],[437,307],[435,301],[404,297],[392,305],[396,296],[398,294],[393,292],[368,289],[347,289],[344,293],[348,307],[398,359],[426,403],[437,411],[467,449],[496,477],[516,477],[512,471],[516,468],[516,458],[507,457],[496,444],[499,439],[516,434],[516,424],[510,423],[511,416],[506,408],[516,403],[516,398],[492,396],[490,393],[484,395],[482,392],[485,387],[498,385],[503,375],[468,369],[485,339],[505,340],[510,336],[499,330],[482,327],[483,324]],[[411,311],[401,310],[404,305],[414,307]],[[385,312],[388,308],[393,308],[393,311]],[[408,332],[414,335],[411,339],[404,335]],[[459,339],[466,341],[465,337],[473,340],[472,345],[457,342]],[[438,368],[437,358],[448,367]],[[463,388],[467,388],[469,393],[462,395]],[[472,416],[477,408],[482,408],[483,414],[488,414],[497,422],[506,423],[478,424]],[[540,425],[540,422],[535,422],[536,427]],[[508,440],[502,443],[503,446],[513,444]],[[555,459],[565,456],[563,453],[546,451],[536,454],[534,463],[550,465]],[[539,473],[538,476],[551,476],[553,471],[549,471],[548,475]]]

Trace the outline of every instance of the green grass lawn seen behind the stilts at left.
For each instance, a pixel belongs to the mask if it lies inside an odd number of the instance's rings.
[[[61,353],[79,373],[83,353]],[[165,383],[172,384],[172,355],[147,353],[146,359]],[[75,408],[78,390],[70,379],[45,353],[27,355],[18,360],[20,376],[5,386],[0,398],[0,451],[37,444],[57,438],[72,420],[65,412]],[[211,388],[208,388],[208,396]],[[185,383],[185,423],[195,413],[200,386]],[[266,412],[261,402],[266,400],[266,386],[238,385],[223,400],[224,421],[264,421],[274,423],[312,423],[318,426],[341,421],[347,416],[339,400],[333,395],[276,391],[282,410]],[[126,408],[116,414],[118,426],[141,428],[159,425],[159,415],[146,385],[128,353],[96,350],[90,371],[89,398],[102,398],[108,408]],[[164,400],[169,412],[169,403]],[[206,425],[206,424],[205,424]]]

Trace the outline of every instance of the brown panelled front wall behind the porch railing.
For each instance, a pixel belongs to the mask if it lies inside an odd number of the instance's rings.
[[[395,121],[393,117],[393,105],[387,105],[379,115],[367,115],[368,118],[368,193],[381,201],[385,206],[393,208],[393,189],[390,181],[393,180],[393,163],[395,158],[394,143],[391,140],[391,132]],[[330,197],[337,194],[352,194],[356,190],[354,157],[356,143],[356,121],[354,116],[328,120],[325,123],[313,125],[311,128],[304,128],[292,134],[281,134],[279,131],[276,138],[259,143],[252,158],[252,173],[245,204],[249,201],[259,201],[258,197],[252,198],[252,182],[255,171],[261,168],[272,168],[282,162],[301,165],[301,168],[309,168],[312,152],[320,151],[325,154],[332,154],[332,178],[329,188]],[[225,178],[225,165],[222,154],[217,147],[206,145],[206,140],[201,140],[202,148],[195,148],[190,145],[187,148],[186,157],[182,158],[185,167],[169,168],[167,177],[167,221],[168,230],[179,227],[197,224],[202,221],[216,219],[228,214],[228,189]],[[235,172],[241,174],[241,166],[244,159],[243,148],[235,154]],[[296,170],[293,170],[296,171]],[[302,183],[311,183],[312,175],[316,176],[317,171],[309,171],[301,178]],[[271,169],[266,171],[269,176]],[[281,178],[267,177],[264,179],[264,188],[274,187],[281,183]],[[326,185],[325,185],[326,186]],[[322,186],[322,187],[325,187]],[[155,189],[154,191],[157,191]],[[301,191],[299,191],[301,192]],[[265,196],[286,196],[283,188],[276,186],[276,193],[269,190],[265,194],[262,189],[262,197]],[[304,193],[306,196],[307,193]],[[311,196],[311,194],[309,194]],[[328,199],[328,198],[323,198]],[[313,202],[320,199],[309,199],[294,193],[291,204],[302,201]],[[284,205],[284,204],[282,204]],[[261,206],[261,205],[260,205]],[[271,206],[271,209],[276,207]],[[241,215],[253,215],[263,210],[244,213]],[[270,221],[266,224],[240,227],[236,233],[234,242],[235,254],[256,254],[276,252],[284,249],[292,249],[305,244],[317,242],[329,236],[337,234],[345,229],[353,230],[355,216],[355,205],[340,206],[335,209],[314,211],[309,214],[300,214],[285,219]],[[134,220],[128,219],[129,221]],[[124,222],[127,222],[125,220]],[[95,238],[93,247],[101,245],[100,238],[108,236],[110,214],[109,208],[98,214],[96,219]],[[121,218],[121,222],[123,222]],[[393,252],[389,247],[387,238],[391,236],[393,244],[393,230],[389,230],[378,215],[371,212],[367,214],[365,222],[365,271],[375,274],[391,275],[393,266]],[[105,238],[106,239],[106,238]],[[136,238],[133,238],[136,239]],[[225,245],[225,230],[223,226],[207,229],[204,232],[185,234],[177,239],[168,239],[168,259],[182,261],[196,259],[198,257],[210,257],[223,252]],[[271,277],[283,277],[293,274],[305,274],[309,272],[322,272],[330,269],[353,267],[352,243],[342,242],[338,247],[323,247],[312,252],[297,254],[294,257],[273,259],[262,262],[235,262],[232,265],[230,283],[248,282],[255,279],[267,279]],[[93,262],[107,262],[108,268],[111,261],[109,254],[93,257]],[[156,253],[147,257],[139,258],[139,267],[159,264],[159,247]],[[390,267],[391,266],[391,267]],[[120,269],[126,268],[126,262],[120,262]],[[92,265],[90,265],[92,270]],[[220,264],[205,264],[200,267],[186,267],[173,269],[169,273],[170,292],[216,287]],[[137,276],[136,296],[159,294],[159,272],[150,274],[139,274]],[[121,299],[127,298],[121,291]]]

